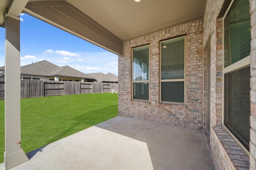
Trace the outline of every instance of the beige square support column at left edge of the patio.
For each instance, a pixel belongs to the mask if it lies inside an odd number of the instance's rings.
[[[28,160],[20,145],[20,20],[7,16],[5,31],[4,165],[10,169]]]

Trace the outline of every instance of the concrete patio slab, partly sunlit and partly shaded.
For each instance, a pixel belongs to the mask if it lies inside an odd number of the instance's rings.
[[[120,116],[27,156],[11,170],[214,170],[201,130]]]

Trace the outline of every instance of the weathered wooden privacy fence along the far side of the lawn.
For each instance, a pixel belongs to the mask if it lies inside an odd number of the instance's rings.
[[[94,83],[52,80],[20,80],[20,98],[70,94],[118,92],[117,83]],[[0,99],[4,99],[4,78],[0,78]]]

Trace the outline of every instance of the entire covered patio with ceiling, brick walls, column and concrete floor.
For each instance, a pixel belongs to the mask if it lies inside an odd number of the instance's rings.
[[[256,0],[138,1],[0,1],[6,33],[0,169],[213,169],[206,129],[216,169],[256,170]],[[22,12],[118,55],[124,117],[24,153]]]

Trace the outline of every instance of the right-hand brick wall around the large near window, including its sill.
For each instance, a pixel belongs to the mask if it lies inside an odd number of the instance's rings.
[[[250,2],[251,13],[255,9],[256,1]],[[207,0],[206,10],[204,14],[204,30],[203,30],[203,45],[207,48],[207,43],[210,42],[210,151],[212,154],[213,163],[216,169],[248,169],[249,159],[245,152],[237,145],[237,143],[232,139],[232,137],[226,132],[222,127],[222,18],[218,18],[220,9],[222,8],[224,0]],[[252,9],[252,6],[253,9]],[[253,14],[252,14],[253,15]],[[252,16],[251,21],[254,21]],[[254,25],[251,23],[252,26]],[[252,28],[253,32],[253,28]],[[255,31],[256,33],[256,31]],[[252,33],[252,39],[253,39]],[[254,41],[252,40],[252,50]],[[255,46],[254,46],[255,47]],[[255,97],[253,98],[252,91],[255,92],[255,75],[252,74],[252,65],[254,62],[255,66],[255,55],[253,56],[253,51],[251,52],[251,111],[255,112]],[[204,55],[207,51],[204,50]],[[207,62],[207,57],[204,56],[204,73],[205,65]],[[254,61],[253,61],[254,59]],[[256,72],[255,72],[256,73]],[[254,76],[253,76],[254,75]],[[205,80],[206,78],[204,78]],[[254,81],[253,81],[254,80]],[[254,83],[253,83],[254,82]],[[204,89],[205,90],[205,89]],[[204,91],[205,92],[205,91]],[[254,100],[254,102],[253,102]],[[205,100],[204,100],[205,101]],[[204,107],[207,107],[205,104]],[[254,108],[253,108],[254,107]],[[204,108],[203,111],[206,109]],[[254,111],[253,111],[254,110]],[[206,115],[206,113],[203,113]],[[255,114],[255,113],[254,113]],[[256,115],[256,114],[255,114]],[[256,120],[256,119],[255,119]],[[254,118],[251,116],[251,126],[255,126]],[[253,133],[252,133],[253,132]],[[250,166],[252,169],[256,169],[255,158],[256,158],[256,131],[251,129],[250,132],[251,142],[250,142]],[[252,143],[252,138],[254,137],[254,142]],[[255,149],[254,149],[255,148]]]

